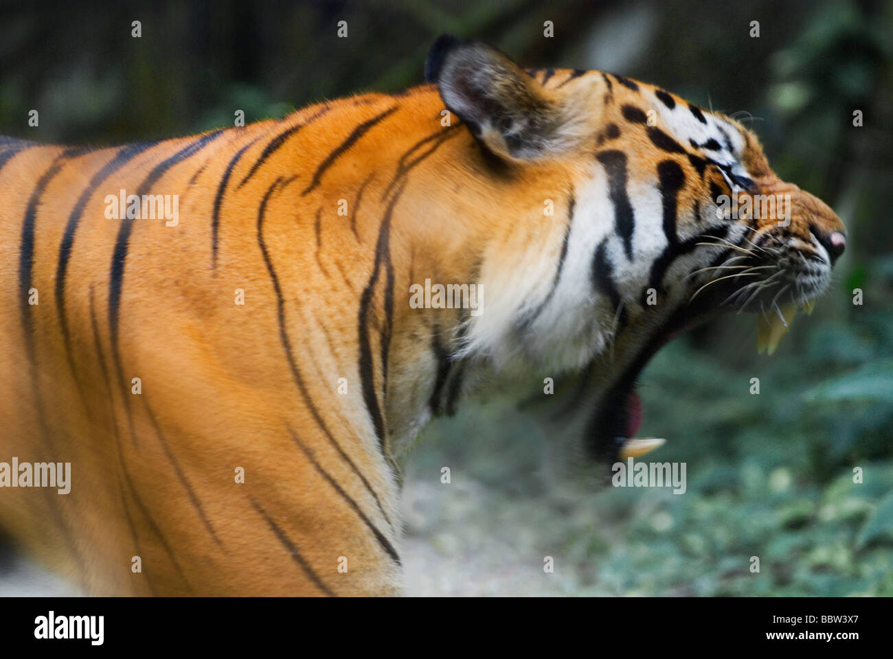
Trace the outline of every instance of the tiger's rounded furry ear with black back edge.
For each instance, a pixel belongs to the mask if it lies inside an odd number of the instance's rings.
[[[543,88],[496,48],[441,35],[425,62],[425,79],[437,83],[447,109],[500,157],[560,155],[586,134],[586,118],[573,111],[574,104]]]

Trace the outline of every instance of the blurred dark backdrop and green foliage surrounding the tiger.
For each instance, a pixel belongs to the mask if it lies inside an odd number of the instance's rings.
[[[507,400],[435,424],[407,473],[407,592],[893,595],[891,28],[893,5],[869,1],[4,4],[0,132],[116,144],[395,92],[445,31],[741,113],[780,177],[847,224],[814,315],[772,358],[742,315],[648,366],[643,433],[669,439],[655,459],[688,463],[684,496],[556,482],[549,430]]]

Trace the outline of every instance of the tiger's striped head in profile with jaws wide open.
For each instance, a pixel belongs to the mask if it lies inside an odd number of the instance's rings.
[[[510,275],[516,254],[483,260],[485,311],[470,319],[463,350],[502,364],[522,358],[547,375],[595,373],[591,453],[652,446],[630,441],[635,381],[681,329],[722,309],[755,312],[759,347],[772,353],[795,305],[811,309],[828,287],[846,229],[772,171],[739,121],[604,71],[524,71],[447,36],[426,77],[496,179],[560,196],[528,196],[523,213],[505,204],[505,221],[548,223],[554,203],[563,235],[529,233],[524,249],[538,263]]]

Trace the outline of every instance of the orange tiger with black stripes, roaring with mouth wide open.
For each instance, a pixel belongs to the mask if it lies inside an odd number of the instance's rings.
[[[585,373],[592,464],[645,455],[661,346],[732,310],[774,349],[828,288],[843,223],[739,121],[449,35],[424,75],[187,138],[3,139],[14,546],[91,595],[396,596],[431,419]]]

